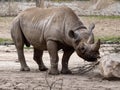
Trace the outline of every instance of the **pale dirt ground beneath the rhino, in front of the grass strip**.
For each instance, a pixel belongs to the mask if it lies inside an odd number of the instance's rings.
[[[32,49],[25,50],[26,61],[31,71],[20,72],[20,64],[16,62],[15,47],[0,46],[0,90],[120,90],[119,80],[104,80],[96,69],[81,75],[75,73],[73,75],[53,76],[48,75],[47,72],[40,72],[32,59],[32,54]],[[61,57],[62,52],[59,52],[60,70]],[[47,52],[44,52],[43,59],[45,65],[50,68]],[[85,63],[74,53],[70,58],[69,68],[82,66]],[[53,84],[54,82],[55,84]]]

